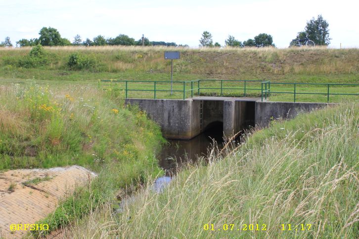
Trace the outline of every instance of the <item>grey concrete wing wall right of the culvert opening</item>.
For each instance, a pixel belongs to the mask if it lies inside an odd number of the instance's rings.
[[[270,118],[292,119],[298,114],[310,112],[327,106],[327,103],[302,103],[302,102],[256,102],[255,123],[256,126],[268,126]]]

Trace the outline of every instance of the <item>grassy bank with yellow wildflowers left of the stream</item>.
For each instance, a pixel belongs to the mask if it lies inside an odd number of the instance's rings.
[[[0,86],[0,170],[82,165],[98,173],[50,214],[50,230],[156,176],[163,138],[117,91],[87,84]]]

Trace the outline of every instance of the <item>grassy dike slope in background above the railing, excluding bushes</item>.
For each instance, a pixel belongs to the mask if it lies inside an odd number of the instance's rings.
[[[20,67],[30,47],[0,49],[0,77],[57,80],[168,80],[171,61],[164,51],[179,50],[175,80],[300,80],[358,82],[358,49],[314,48],[174,48],[140,46],[45,47],[49,64]],[[79,52],[96,62],[86,71],[71,71],[69,57]],[[93,74],[86,74],[91,72]]]

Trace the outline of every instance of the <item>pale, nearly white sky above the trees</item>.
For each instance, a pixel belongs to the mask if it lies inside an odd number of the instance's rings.
[[[228,35],[273,37],[279,48],[321,14],[329,23],[329,47],[359,47],[358,0],[0,0],[0,41],[39,38],[43,27],[56,28],[70,41],[119,34],[135,40],[176,42],[198,47],[204,31],[224,45]]]

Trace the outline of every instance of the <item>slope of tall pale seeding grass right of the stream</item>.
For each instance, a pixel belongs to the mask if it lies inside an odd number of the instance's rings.
[[[189,166],[163,193],[145,188],[120,215],[98,210],[65,235],[358,238],[358,109],[273,121],[234,150],[212,151],[208,166]]]

